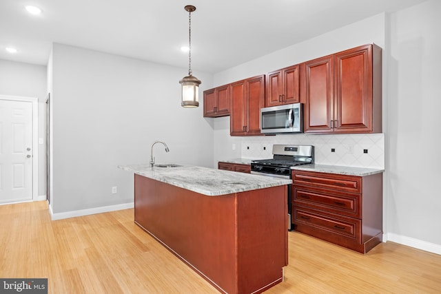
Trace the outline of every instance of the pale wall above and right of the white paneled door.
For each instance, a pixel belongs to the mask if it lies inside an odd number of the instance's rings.
[[[0,94],[6,96],[36,97],[39,101],[39,138],[43,144],[39,145],[39,191],[38,196],[45,198],[45,113],[46,113],[46,67],[19,63],[0,59]]]

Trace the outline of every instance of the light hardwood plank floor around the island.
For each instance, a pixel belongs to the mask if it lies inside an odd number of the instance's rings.
[[[0,224],[0,277],[47,277],[49,293],[218,293],[133,209],[51,221],[46,202],[8,204]],[[441,255],[393,242],[362,255],[288,235],[285,281],[265,293],[441,293]]]

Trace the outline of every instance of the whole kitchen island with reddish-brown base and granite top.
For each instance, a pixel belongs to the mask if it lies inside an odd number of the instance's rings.
[[[223,293],[260,293],[288,263],[291,180],[204,167],[125,165],[134,221]]]

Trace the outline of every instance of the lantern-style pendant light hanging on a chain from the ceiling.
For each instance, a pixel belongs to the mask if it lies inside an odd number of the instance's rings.
[[[185,11],[188,14],[188,76],[179,81],[182,86],[182,107],[198,107],[199,106],[199,85],[201,81],[192,76],[192,12],[196,10],[196,7],[192,5],[185,6]]]

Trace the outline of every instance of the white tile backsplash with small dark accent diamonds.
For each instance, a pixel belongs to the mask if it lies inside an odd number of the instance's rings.
[[[272,146],[314,145],[318,165],[384,169],[384,134],[289,134],[243,137],[242,158],[272,158]]]

